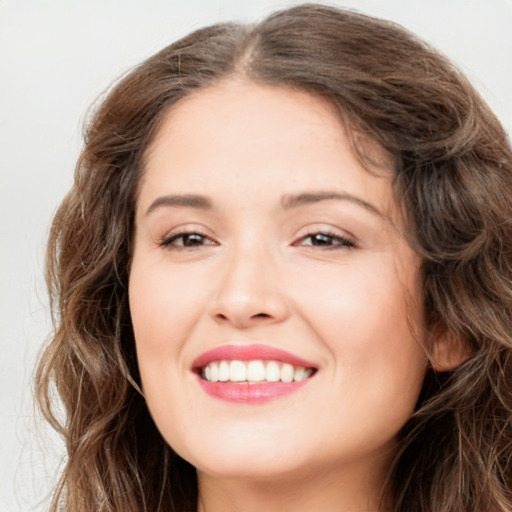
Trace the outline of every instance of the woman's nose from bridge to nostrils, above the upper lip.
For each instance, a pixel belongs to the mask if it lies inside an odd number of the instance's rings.
[[[252,244],[223,262],[210,316],[237,329],[273,324],[289,315],[278,265],[270,251]]]

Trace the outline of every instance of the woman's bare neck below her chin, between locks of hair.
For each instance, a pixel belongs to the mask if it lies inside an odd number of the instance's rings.
[[[198,472],[198,512],[385,512],[381,477],[311,471],[300,478],[255,480]]]

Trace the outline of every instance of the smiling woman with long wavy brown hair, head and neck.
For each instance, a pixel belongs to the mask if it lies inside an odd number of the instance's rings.
[[[53,510],[510,510],[511,191],[495,116],[389,22],[142,63],[50,237]]]

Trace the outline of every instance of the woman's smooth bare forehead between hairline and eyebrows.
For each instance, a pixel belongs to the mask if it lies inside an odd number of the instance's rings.
[[[162,189],[224,197],[334,188],[387,211],[390,160],[377,144],[359,143],[379,163],[371,172],[325,100],[226,81],[187,96],[167,113],[146,154],[139,202],[147,204]]]

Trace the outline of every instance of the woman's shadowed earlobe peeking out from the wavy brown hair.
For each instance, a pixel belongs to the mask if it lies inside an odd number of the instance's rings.
[[[469,343],[444,327],[432,336],[430,363],[436,372],[454,370],[471,357]]]

